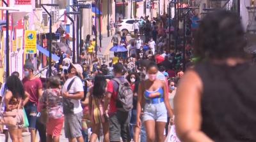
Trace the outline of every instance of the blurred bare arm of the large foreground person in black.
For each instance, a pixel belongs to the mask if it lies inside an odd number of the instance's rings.
[[[181,141],[212,141],[200,131],[202,89],[202,81],[195,71],[188,71],[180,80],[174,98],[174,112],[175,126]]]

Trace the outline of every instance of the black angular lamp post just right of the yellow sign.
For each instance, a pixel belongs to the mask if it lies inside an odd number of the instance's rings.
[[[45,10],[45,12],[49,15],[50,17],[50,37],[49,37],[49,77],[51,76],[52,73],[52,15],[49,13],[49,11],[46,10],[45,6],[59,6],[59,4],[41,4],[42,8]]]

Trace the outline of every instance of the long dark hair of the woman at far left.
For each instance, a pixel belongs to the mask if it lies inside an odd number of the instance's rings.
[[[16,97],[16,98],[21,97],[22,99],[25,98],[25,91],[24,91],[23,84],[17,76],[15,75],[9,76],[6,80],[5,85],[7,89],[12,92],[13,97]]]

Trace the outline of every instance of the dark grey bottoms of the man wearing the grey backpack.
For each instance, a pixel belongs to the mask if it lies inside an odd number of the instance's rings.
[[[122,137],[123,141],[130,141],[129,133],[129,112],[117,111],[109,118],[109,140],[120,141]]]

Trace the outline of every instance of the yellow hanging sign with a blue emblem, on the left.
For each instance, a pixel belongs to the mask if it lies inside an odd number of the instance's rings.
[[[25,53],[36,53],[36,31],[25,31]]]

